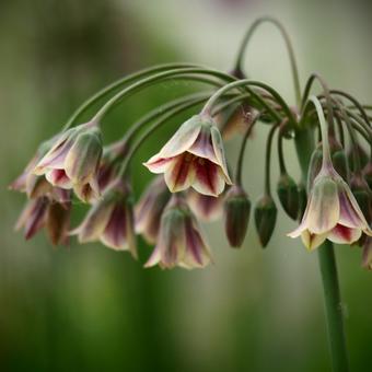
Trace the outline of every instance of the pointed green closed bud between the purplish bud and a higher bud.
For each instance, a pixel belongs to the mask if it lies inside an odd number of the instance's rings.
[[[259,242],[265,248],[277,222],[277,207],[269,195],[263,196],[255,206],[255,222]]]

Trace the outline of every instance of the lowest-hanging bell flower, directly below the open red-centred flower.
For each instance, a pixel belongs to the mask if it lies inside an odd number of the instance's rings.
[[[200,228],[185,199],[174,195],[161,219],[156,246],[144,267],[202,268],[211,261]]]

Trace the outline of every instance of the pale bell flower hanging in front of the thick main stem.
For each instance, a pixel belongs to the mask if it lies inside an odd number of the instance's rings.
[[[352,244],[371,230],[348,184],[332,164],[322,167],[310,193],[305,213],[298,229],[288,235],[301,235],[309,249],[326,239],[338,244]]]

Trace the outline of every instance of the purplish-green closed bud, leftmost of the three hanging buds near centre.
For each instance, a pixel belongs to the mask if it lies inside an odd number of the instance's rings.
[[[249,222],[251,201],[241,186],[232,186],[224,200],[224,231],[232,247],[242,246]]]

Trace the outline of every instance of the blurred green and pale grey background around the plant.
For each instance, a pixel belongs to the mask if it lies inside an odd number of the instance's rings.
[[[13,232],[24,196],[7,186],[37,144],[96,90],[160,62],[191,61],[229,71],[245,30],[263,14],[278,16],[288,27],[302,84],[317,71],[329,85],[372,103],[371,9],[365,4],[0,1],[1,371],[329,370],[317,256],[286,237],[294,223],[281,211],[266,251],[253,221],[241,251],[229,248],[216,222],[205,226],[214,265],[162,271],[141,267],[151,253],[143,242],[140,263],[100,244],[72,241],[68,248],[54,248],[44,233],[25,242]],[[251,77],[293,102],[288,57],[272,26],[260,28],[246,56]],[[105,141],[188,89],[168,82],[129,100],[106,120]],[[137,160],[137,197],[151,178],[140,162],[171,131],[172,125]],[[245,186],[253,200],[263,189],[266,133],[266,128],[256,130],[247,147]],[[232,161],[237,146],[239,138],[226,144]],[[299,178],[292,153],[287,149],[291,173]],[[277,176],[275,171],[272,179]],[[365,371],[372,354],[372,275],[361,269],[357,248],[338,246],[337,259],[351,367]]]

